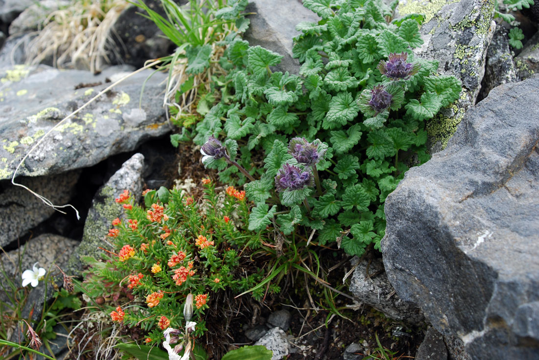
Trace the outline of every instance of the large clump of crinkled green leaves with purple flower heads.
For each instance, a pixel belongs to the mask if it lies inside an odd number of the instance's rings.
[[[458,98],[461,84],[437,74],[437,61],[411,51],[423,44],[422,17],[389,21],[393,9],[378,0],[303,5],[322,20],[296,27],[302,32],[293,46],[300,75],[274,72],[277,53],[227,39],[221,62],[230,65],[227,80],[235,92],[206,114],[194,140],[202,145],[210,136],[224,136],[238,142],[238,163],[258,177],[249,182],[238,174],[255,203],[250,230],[314,230],[319,244],[338,242],[350,255],[362,255],[369,244],[379,249],[386,196],[410,165],[429,158],[425,121]],[[324,156],[314,166],[298,163],[288,146],[293,137],[319,139],[316,149]],[[262,164],[254,153],[265,154]],[[218,168],[225,182],[237,174],[224,162],[206,165]],[[317,190],[275,192],[276,175],[286,183],[296,173],[316,178]]]

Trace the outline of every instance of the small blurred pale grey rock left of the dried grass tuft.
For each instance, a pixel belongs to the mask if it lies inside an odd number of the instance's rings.
[[[42,0],[33,3],[11,22],[9,33],[14,35],[36,31],[51,12],[67,4],[69,4],[67,0]]]

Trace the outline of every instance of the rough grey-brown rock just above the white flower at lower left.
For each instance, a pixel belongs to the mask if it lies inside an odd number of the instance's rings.
[[[0,263],[2,263],[6,275],[9,276],[16,286],[20,286],[22,284],[22,272],[19,271],[19,262],[21,271],[32,269],[33,264],[39,263],[38,266],[43,267],[47,271],[58,272],[57,267],[53,264],[57,264],[60,266],[60,269],[64,270],[71,253],[77,245],[77,241],[63,236],[42,234],[30,239],[30,241],[22,245],[19,249],[11,250],[5,254],[0,253]],[[7,285],[1,272],[0,283]],[[30,285],[28,286],[31,288]],[[0,291],[0,300],[7,300],[3,291]],[[36,305],[43,306],[43,299],[40,304]]]

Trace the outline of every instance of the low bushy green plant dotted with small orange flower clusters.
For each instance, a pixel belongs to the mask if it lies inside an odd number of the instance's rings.
[[[160,343],[169,327],[186,326],[189,294],[197,337],[206,330],[212,299],[245,292],[264,277],[252,263],[252,250],[261,242],[260,234],[247,230],[245,192],[230,186],[218,194],[210,179],[201,184],[204,195],[198,200],[176,189],[147,190],[146,207],[124,192],[116,200],[125,217],[115,219],[107,235],[112,248],[103,248],[102,259],[86,259],[89,295],[105,299],[114,323],[141,328],[140,340],[146,343]],[[271,285],[251,295],[260,300],[265,291],[280,289]]]

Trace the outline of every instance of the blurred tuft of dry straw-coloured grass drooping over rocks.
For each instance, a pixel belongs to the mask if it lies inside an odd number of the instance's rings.
[[[72,0],[44,20],[25,47],[27,62],[36,65],[52,57],[54,67],[100,70],[108,61],[106,44],[112,26],[128,5],[125,0]]]

